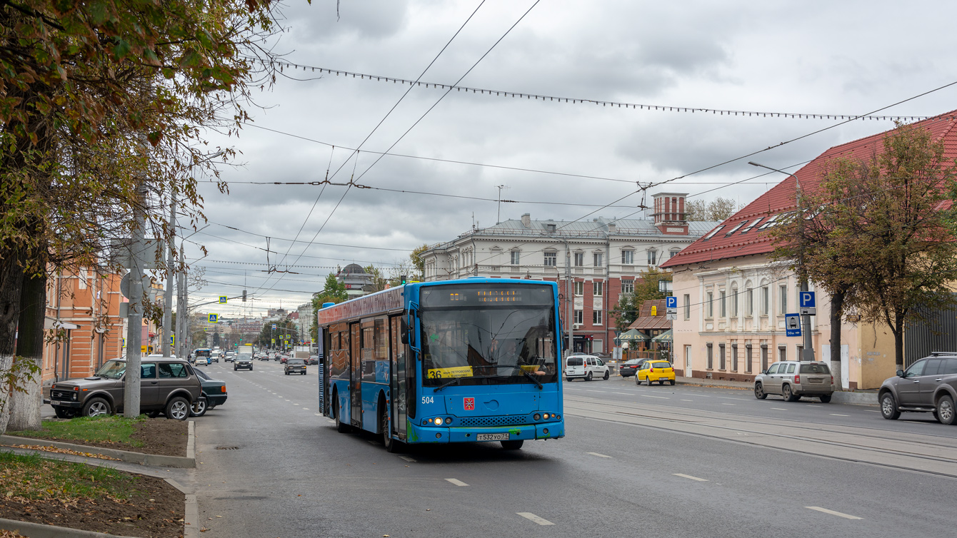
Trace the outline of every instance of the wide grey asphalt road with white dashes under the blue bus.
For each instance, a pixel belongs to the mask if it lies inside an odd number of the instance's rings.
[[[563,440],[395,455],[317,416],[314,369],[204,370],[230,395],[196,420],[205,538],[954,533],[957,427],[922,417],[612,378],[566,384]]]

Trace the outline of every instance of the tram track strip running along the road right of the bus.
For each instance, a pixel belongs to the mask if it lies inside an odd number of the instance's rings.
[[[860,426],[827,428],[798,420],[568,395],[565,414],[957,479],[957,440],[942,442],[951,439],[944,436],[879,430],[880,435]]]

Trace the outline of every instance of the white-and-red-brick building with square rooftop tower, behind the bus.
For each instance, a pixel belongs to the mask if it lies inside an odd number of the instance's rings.
[[[684,197],[655,195],[653,220],[534,221],[525,213],[520,220],[471,229],[422,254],[423,278],[558,281],[559,293],[574,300],[572,351],[609,354],[617,328],[608,312],[621,294],[634,291],[642,271],[657,268],[718,224],[685,222]],[[563,320],[566,311],[563,306]]]

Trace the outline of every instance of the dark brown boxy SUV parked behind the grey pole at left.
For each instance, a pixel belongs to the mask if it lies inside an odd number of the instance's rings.
[[[60,419],[96,417],[122,412],[126,360],[114,358],[93,377],[57,381],[50,387],[50,405]],[[203,395],[199,377],[186,360],[145,358],[140,364],[140,409],[147,415],[187,420],[190,406]]]

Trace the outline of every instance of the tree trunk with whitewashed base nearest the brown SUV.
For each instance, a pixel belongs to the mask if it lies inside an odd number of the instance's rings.
[[[19,336],[15,360],[32,361],[36,366],[36,373],[21,383],[26,392],[11,392],[10,423],[7,424],[11,430],[40,429],[40,408],[43,407],[43,321],[46,308],[46,271],[24,275],[20,291]]]

